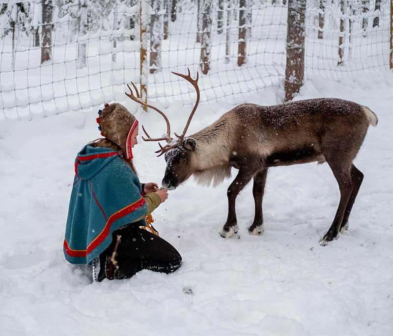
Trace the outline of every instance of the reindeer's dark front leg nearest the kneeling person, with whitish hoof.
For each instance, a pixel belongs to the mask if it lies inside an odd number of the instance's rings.
[[[228,218],[226,219],[223,229],[220,231],[220,235],[223,238],[230,237],[239,230],[236,219],[236,197],[244,186],[253,178],[253,174],[254,170],[250,169],[250,167],[240,167],[235,180],[229,185],[226,193],[228,196]]]

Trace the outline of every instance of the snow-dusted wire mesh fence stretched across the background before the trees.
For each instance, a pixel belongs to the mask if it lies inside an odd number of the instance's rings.
[[[144,81],[149,100],[191,103],[194,92],[171,74],[187,67],[199,71],[201,102],[245,102],[263,88],[282,87],[285,76],[286,0],[11,0],[0,6],[0,118],[122,102],[130,81]],[[388,69],[389,13],[389,0],[307,0],[306,78]],[[147,26],[142,42],[141,22]],[[142,76],[141,47],[148,56]]]

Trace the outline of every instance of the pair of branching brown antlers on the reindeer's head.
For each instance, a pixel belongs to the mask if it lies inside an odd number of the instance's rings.
[[[137,87],[135,86],[135,84],[133,82],[131,82],[131,84],[134,86],[134,89],[135,89],[135,92],[137,94],[137,97],[134,96],[134,93],[133,93],[131,87],[127,84],[128,88],[130,90],[130,94],[125,93],[126,96],[130,97],[134,102],[140,103],[143,106],[147,106],[147,107],[150,107],[150,108],[156,110],[158,113],[160,113],[164,117],[165,122],[167,123],[167,134],[165,134],[166,136],[163,136],[161,138],[151,138],[150,135],[146,132],[146,130],[142,126],[142,129],[143,129],[144,133],[147,136],[147,139],[145,139],[142,136],[142,139],[144,141],[161,141],[161,140],[166,140],[168,142],[168,144],[165,145],[164,147],[161,146],[160,143],[158,143],[158,145],[160,146],[160,149],[158,151],[154,152],[154,153],[158,153],[159,154],[157,156],[161,156],[164,153],[168,152],[170,149],[177,147],[183,141],[184,136],[186,135],[187,129],[190,126],[191,119],[193,118],[194,113],[197,110],[197,106],[199,104],[199,97],[200,97],[199,87],[198,87],[199,74],[197,73],[197,78],[193,79],[193,78],[191,78],[191,75],[190,75],[190,69],[187,68],[187,70],[188,70],[188,75],[178,74],[178,73],[175,73],[175,72],[172,72],[172,74],[174,74],[176,76],[180,76],[180,77],[186,79],[187,81],[189,81],[195,87],[195,89],[197,91],[197,101],[196,101],[196,103],[194,105],[193,110],[191,111],[190,117],[188,118],[187,124],[184,127],[183,132],[180,135],[177,135],[176,133],[174,133],[176,135],[176,137],[178,138],[178,140],[174,144],[172,144],[172,145],[170,145],[170,143],[172,142],[173,139],[170,137],[170,125],[169,125],[169,120],[168,120],[167,116],[164,114],[164,112],[160,111],[157,107],[154,107],[152,105],[144,103],[140,99],[140,95],[139,95],[138,89],[137,89]]]

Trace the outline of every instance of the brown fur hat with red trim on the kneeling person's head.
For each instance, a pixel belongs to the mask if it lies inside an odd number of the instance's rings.
[[[134,115],[119,103],[106,104],[100,113],[99,124],[102,134],[119,145],[127,159],[132,158],[131,134],[138,126]]]

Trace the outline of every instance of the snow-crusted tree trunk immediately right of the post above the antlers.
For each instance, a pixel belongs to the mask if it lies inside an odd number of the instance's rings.
[[[150,74],[161,69],[161,36],[162,16],[158,14],[161,10],[161,0],[150,0],[150,6],[154,14],[150,15]]]

